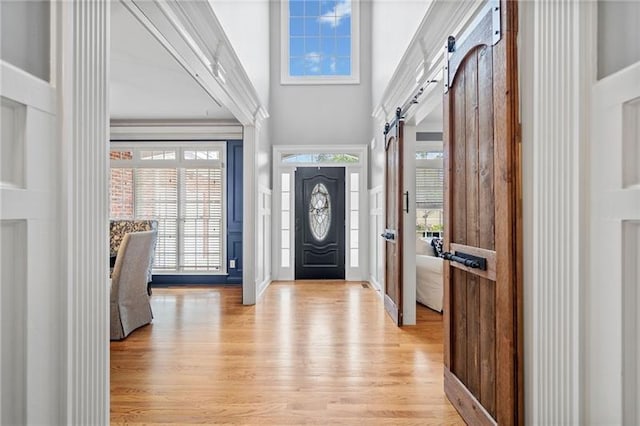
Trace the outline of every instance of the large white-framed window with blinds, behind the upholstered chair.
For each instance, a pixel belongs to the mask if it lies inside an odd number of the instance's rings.
[[[158,221],[154,273],[226,272],[224,144],[131,151],[111,155],[111,217]]]

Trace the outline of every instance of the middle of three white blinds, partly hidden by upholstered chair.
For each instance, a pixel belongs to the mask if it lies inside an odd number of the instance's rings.
[[[158,221],[154,270],[176,270],[178,266],[177,181],[177,169],[134,170],[136,219]]]

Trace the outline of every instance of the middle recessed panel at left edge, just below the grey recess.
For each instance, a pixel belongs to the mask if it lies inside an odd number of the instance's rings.
[[[26,106],[4,97],[1,103],[0,182],[23,188]]]

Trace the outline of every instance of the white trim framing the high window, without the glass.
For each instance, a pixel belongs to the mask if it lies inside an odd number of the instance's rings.
[[[291,76],[289,74],[289,1],[280,2],[280,84],[360,84],[360,0],[351,0],[351,75]]]

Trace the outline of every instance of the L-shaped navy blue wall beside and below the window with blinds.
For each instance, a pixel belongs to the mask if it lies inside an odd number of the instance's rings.
[[[227,142],[227,272],[229,275],[154,275],[152,285],[242,284],[242,141]],[[232,261],[235,268],[231,267]]]

